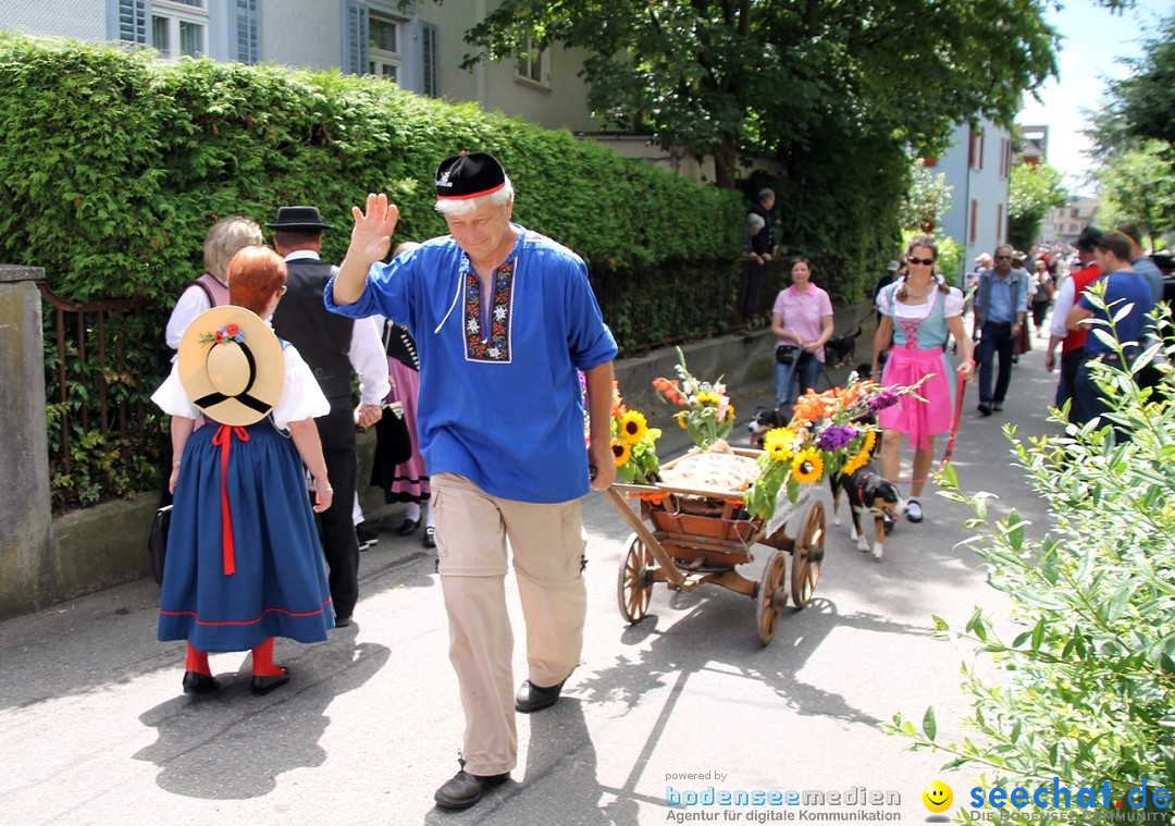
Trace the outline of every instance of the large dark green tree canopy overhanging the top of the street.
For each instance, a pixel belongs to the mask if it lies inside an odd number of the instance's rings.
[[[1055,73],[1045,0],[503,0],[464,65],[551,43],[582,49],[589,103],[666,150],[741,161],[886,135],[936,154],[955,123],[1010,125]],[[992,48],[999,42],[999,48]],[[841,146],[851,154],[852,143]]]

